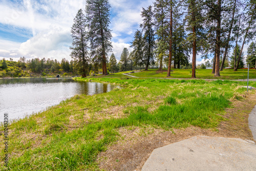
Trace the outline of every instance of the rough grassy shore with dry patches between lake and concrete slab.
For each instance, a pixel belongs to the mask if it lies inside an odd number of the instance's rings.
[[[218,131],[225,108],[231,108],[232,100],[243,99],[246,91],[241,88],[245,82],[228,80],[74,79],[123,88],[76,95],[45,112],[14,121],[9,125],[10,169],[99,170],[97,155],[125,140],[120,128],[152,126],[172,131],[195,126]],[[256,82],[249,86],[256,87]]]

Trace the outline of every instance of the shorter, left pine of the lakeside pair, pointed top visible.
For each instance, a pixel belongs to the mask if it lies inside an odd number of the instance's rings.
[[[71,28],[71,36],[73,38],[72,50],[70,56],[74,59],[76,69],[79,74],[84,78],[88,70],[88,46],[87,46],[87,32],[86,32],[86,18],[82,13],[82,10],[78,10],[76,17],[74,18],[74,24]]]

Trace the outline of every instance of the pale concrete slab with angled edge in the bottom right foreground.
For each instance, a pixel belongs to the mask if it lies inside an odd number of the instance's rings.
[[[237,138],[196,136],[154,149],[142,171],[256,170],[256,145]]]

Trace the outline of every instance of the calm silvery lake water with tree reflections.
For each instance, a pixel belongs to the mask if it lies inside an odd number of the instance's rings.
[[[0,122],[4,120],[5,113],[8,113],[8,119],[23,118],[76,94],[105,93],[116,87],[71,78],[0,79]]]

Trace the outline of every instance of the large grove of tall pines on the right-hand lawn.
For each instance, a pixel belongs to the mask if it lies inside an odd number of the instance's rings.
[[[191,53],[193,78],[197,54],[203,54],[205,59],[214,54],[212,73],[220,76],[227,65],[231,44],[236,41],[234,51],[237,53],[233,52],[230,62],[237,71],[243,68],[244,44],[255,37],[255,11],[255,0],[157,0],[154,9],[152,6],[142,8],[142,31],[135,32],[131,54],[135,64],[146,65],[145,70],[154,63],[154,55],[159,69],[163,61],[168,61],[169,76],[171,65],[173,68],[188,65]],[[242,46],[238,46],[238,40],[243,40]],[[248,61],[253,63],[253,55],[249,56]]]

